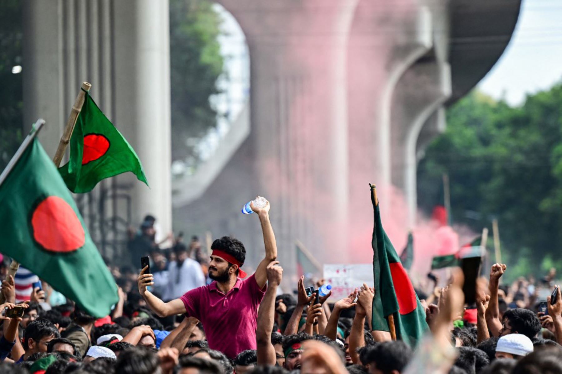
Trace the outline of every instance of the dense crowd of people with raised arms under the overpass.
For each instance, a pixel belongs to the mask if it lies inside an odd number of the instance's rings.
[[[392,329],[373,330],[380,317],[373,316],[373,285],[357,285],[334,303],[330,294],[307,292],[303,278],[294,293],[280,293],[283,264],[270,205],[252,209],[265,247],[253,274],[243,269],[246,249],[237,239],[216,239],[205,258],[195,239],[162,246],[147,216],[129,244],[132,263],[108,264],[119,302],[104,318],[55,301],[45,283],[16,305],[14,279],[3,271],[0,373],[562,373],[562,295],[554,270],[506,286],[509,270],[494,264],[477,281],[476,302],[466,304],[463,273],[451,268],[446,287],[418,290],[427,332],[408,345]],[[139,271],[144,255],[151,265]],[[8,317],[16,306],[24,315]]]

